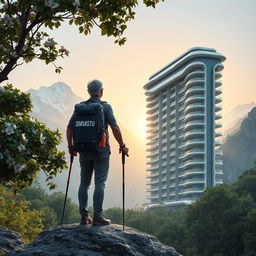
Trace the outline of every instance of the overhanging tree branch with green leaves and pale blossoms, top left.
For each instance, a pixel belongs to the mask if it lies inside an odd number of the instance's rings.
[[[164,0],[143,0],[152,7],[160,1]],[[102,35],[124,44],[122,35],[137,5],[137,0],[0,0],[0,83],[23,62],[41,59],[54,64],[58,57],[68,56],[69,51],[46,33],[65,20],[85,35],[97,26]],[[55,65],[55,72],[61,69]]]

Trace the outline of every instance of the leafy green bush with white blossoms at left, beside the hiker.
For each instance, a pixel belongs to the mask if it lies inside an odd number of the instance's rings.
[[[44,171],[50,189],[66,168],[64,152],[57,149],[61,135],[31,118],[29,95],[11,85],[0,87],[0,184],[19,191]]]

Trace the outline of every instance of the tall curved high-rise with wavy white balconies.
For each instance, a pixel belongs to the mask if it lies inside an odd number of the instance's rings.
[[[222,183],[221,62],[195,47],[153,74],[147,96],[149,207],[182,207]]]

